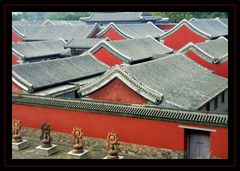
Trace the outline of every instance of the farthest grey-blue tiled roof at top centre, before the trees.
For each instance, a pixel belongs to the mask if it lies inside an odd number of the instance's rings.
[[[151,16],[151,12],[93,12],[89,17],[81,18],[83,21],[132,21],[144,20],[147,16]],[[152,17],[151,20],[158,20],[160,17]]]

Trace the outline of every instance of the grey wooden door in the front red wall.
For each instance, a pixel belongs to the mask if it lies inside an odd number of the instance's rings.
[[[189,130],[187,144],[187,158],[210,158],[210,133],[207,131]]]

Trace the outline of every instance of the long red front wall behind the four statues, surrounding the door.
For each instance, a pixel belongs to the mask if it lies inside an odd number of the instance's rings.
[[[86,136],[104,139],[108,131],[114,131],[118,133],[119,140],[123,142],[177,151],[185,150],[185,131],[178,127],[185,124],[177,122],[18,104],[12,105],[12,117],[20,119],[23,126],[30,128],[39,128],[40,124],[46,121],[51,124],[53,131],[71,133],[73,127],[79,126],[83,128]],[[217,132],[211,133],[211,154],[220,158],[228,157],[226,128],[195,126],[216,129]]]

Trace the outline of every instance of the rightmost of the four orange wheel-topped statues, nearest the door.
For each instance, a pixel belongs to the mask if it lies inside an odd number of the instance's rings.
[[[107,159],[118,159],[119,143],[117,142],[118,141],[117,134],[113,132],[108,132],[107,141],[108,141],[106,144],[106,148],[108,151]]]

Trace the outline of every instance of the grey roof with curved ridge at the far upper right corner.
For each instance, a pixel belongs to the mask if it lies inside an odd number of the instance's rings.
[[[186,19],[182,20],[175,27],[165,32],[165,34],[161,36],[161,39],[171,35],[183,25],[186,25],[192,31],[197,32],[208,39],[228,35],[228,27],[217,20],[193,18],[189,21]]]

